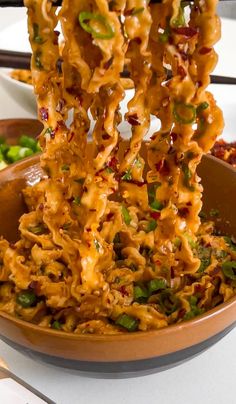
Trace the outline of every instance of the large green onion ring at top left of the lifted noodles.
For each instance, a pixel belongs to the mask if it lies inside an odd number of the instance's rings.
[[[81,11],[81,13],[79,13],[78,19],[80,26],[83,28],[83,30],[91,34],[93,38],[111,39],[115,36],[112,27],[110,26],[106,18],[101,14],[94,14],[88,11]],[[93,27],[91,27],[91,25],[89,25],[89,22],[91,20],[98,21],[102,25],[102,27],[105,28],[106,33],[103,34],[95,30]]]

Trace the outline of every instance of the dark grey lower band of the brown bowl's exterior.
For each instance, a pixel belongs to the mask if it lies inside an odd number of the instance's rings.
[[[120,379],[129,377],[145,376],[152,373],[162,372],[174,366],[192,359],[193,357],[204,352],[226,334],[228,334],[234,327],[236,322],[214,335],[213,337],[196,344],[181,351],[173,352],[167,355],[159,356],[156,358],[142,359],[128,362],[86,362],[72,359],[65,359],[56,356],[46,355],[41,352],[34,351],[19,345],[11,340],[0,336],[0,338],[12,348],[21,352],[23,355],[30,357],[33,360],[47,363],[56,367],[61,367],[66,370],[77,373],[81,376],[94,377],[99,379]]]

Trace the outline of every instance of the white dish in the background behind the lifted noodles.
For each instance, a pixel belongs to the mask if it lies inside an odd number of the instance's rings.
[[[216,51],[219,54],[219,62],[214,74],[236,77],[236,52],[232,51],[232,34],[236,33],[236,21],[222,19],[222,38],[216,45]],[[17,33],[17,35],[16,35]],[[26,18],[9,25],[6,29],[0,31],[0,49],[18,50],[30,52],[28,41]],[[32,86],[17,82],[9,77],[10,69],[0,69],[0,79],[8,93],[23,106],[28,112],[36,116],[36,103],[33,95]],[[236,86],[232,85],[211,85],[210,90],[215,95],[219,106],[223,109],[225,117],[225,128],[223,138],[227,141],[236,140]],[[125,101],[121,105],[122,114],[126,111],[128,99],[132,96],[132,90],[127,91]],[[156,120],[151,122],[149,134],[152,134],[156,128]],[[129,125],[122,123],[119,127],[121,133],[127,137],[130,133]]]

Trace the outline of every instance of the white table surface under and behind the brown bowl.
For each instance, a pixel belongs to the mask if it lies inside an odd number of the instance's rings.
[[[23,10],[0,10],[0,27]],[[17,40],[17,33],[16,33]],[[236,75],[236,70],[235,70]],[[0,88],[0,119],[31,117]],[[36,363],[0,341],[10,370],[57,404],[235,404],[236,329],[200,356],[155,375],[101,380]],[[0,404],[4,404],[1,401]],[[17,404],[17,403],[12,403]]]

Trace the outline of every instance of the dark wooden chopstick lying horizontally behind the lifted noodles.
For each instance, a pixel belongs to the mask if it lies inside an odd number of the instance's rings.
[[[12,69],[30,69],[31,53],[0,50],[0,67]],[[124,71],[121,76],[127,78],[129,74]],[[236,84],[236,77],[211,75],[212,84]]]

